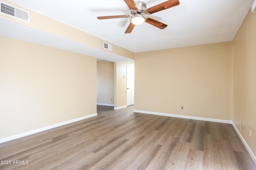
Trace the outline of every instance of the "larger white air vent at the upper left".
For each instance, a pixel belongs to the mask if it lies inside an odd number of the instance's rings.
[[[29,23],[29,12],[26,10],[22,10],[16,6],[7,4],[6,2],[0,1],[1,3],[1,12],[0,14],[4,14],[6,16],[16,18],[21,21],[25,21]]]

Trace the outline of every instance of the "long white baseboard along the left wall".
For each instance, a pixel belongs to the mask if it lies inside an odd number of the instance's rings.
[[[35,130],[32,130],[32,131],[20,133],[20,134],[18,134],[18,135],[13,135],[13,136],[10,136],[10,137],[2,138],[2,139],[0,139],[0,143],[4,143],[4,142],[7,142],[7,141],[11,141],[11,140],[14,140],[14,139],[18,139],[18,138],[21,138],[21,137],[25,137],[25,136],[28,136],[28,135],[32,135],[32,134],[34,134],[34,133],[46,131],[46,130],[52,129],[52,128],[54,128],[54,127],[59,127],[59,126],[62,126],[62,125],[66,125],[66,124],[69,124],[69,123],[73,123],[73,122],[75,122],[75,121],[80,121],[80,120],[83,120],[83,119],[87,119],[87,118],[90,118],[90,117],[93,117],[93,116],[96,116],[96,115],[98,115],[98,114],[97,114],[97,113],[94,113],[94,114],[92,114],[92,115],[87,115],[87,116],[84,116],[84,117],[79,117],[79,118],[76,118],[76,119],[64,121],[64,122],[61,122],[61,123],[57,123],[57,124],[54,124],[54,125],[42,127],[42,128],[35,129]]]

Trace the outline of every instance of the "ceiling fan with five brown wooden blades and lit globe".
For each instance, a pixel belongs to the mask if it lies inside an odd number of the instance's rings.
[[[180,4],[179,0],[168,0],[166,2],[163,2],[161,4],[158,4],[156,6],[153,6],[147,9],[146,3],[142,1],[124,0],[124,2],[130,8],[132,16],[129,16],[129,15],[100,16],[97,18],[99,20],[113,19],[113,18],[130,18],[130,24],[124,33],[131,33],[135,25],[141,25],[144,22],[149,23],[160,29],[164,29],[167,27],[166,24],[144,15],[150,15],[155,12],[166,10],[168,8],[171,8]]]

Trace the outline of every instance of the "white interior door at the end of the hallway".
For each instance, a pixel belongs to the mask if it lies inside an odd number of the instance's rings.
[[[134,105],[134,67],[126,66],[126,106]]]

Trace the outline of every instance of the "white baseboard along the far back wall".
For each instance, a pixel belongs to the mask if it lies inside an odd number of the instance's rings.
[[[211,119],[211,118],[205,118],[205,117],[195,117],[195,116],[184,116],[184,115],[174,115],[174,114],[168,114],[168,113],[158,113],[153,111],[142,111],[142,110],[134,110],[134,112],[137,113],[146,113],[151,115],[160,115],[160,116],[169,116],[169,117],[179,117],[184,119],[194,119],[194,120],[202,120],[202,121],[213,121],[218,123],[228,123],[232,124],[231,120],[222,120],[222,119]]]

